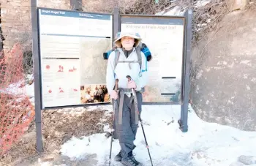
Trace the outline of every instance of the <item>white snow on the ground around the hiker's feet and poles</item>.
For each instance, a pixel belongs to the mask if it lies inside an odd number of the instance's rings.
[[[256,132],[207,123],[200,120],[191,107],[190,110],[189,131],[184,133],[178,129],[177,123],[180,106],[143,105],[143,127],[154,165],[228,166],[241,155],[256,156]],[[136,159],[144,165],[151,165],[141,127],[135,145]],[[119,150],[118,140],[114,140],[112,156],[118,154]],[[61,146],[61,154],[72,160],[86,159],[87,155],[97,154],[97,165],[105,165],[109,151],[110,138],[105,137],[105,134],[72,137]],[[114,165],[121,166],[117,162]]]

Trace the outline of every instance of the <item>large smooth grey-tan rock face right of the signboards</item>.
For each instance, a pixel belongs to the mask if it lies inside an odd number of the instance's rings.
[[[256,10],[234,11],[194,48],[203,64],[191,87],[197,115],[243,130],[256,130]]]

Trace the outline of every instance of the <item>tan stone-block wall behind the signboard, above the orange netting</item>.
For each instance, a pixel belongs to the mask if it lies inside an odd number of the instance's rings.
[[[39,7],[70,9],[70,0],[38,0]],[[30,0],[1,1],[1,29],[4,49],[12,48],[15,39],[26,42],[31,35]]]

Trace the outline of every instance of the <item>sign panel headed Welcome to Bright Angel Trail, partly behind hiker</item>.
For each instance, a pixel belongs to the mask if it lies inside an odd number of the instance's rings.
[[[184,18],[121,16],[121,31],[140,34],[151,51],[143,102],[181,103]]]

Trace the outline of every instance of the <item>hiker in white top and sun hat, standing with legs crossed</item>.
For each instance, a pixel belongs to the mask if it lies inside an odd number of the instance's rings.
[[[134,140],[138,129],[138,117],[135,113],[135,102],[131,89],[134,88],[138,99],[139,116],[143,101],[143,88],[148,82],[147,60],[143,52],[135,49],[140,42],[139,34],[118,32],[114,45],[116,50],[110,53],[106,82],[108,92],[116,99],[115,132],[121,146],[121,151],[115,160],[126,166],[140,165],[132,154],[136,147]],[[140,51],[140,56],[138,56]],[[128,82],[127,75],[132,79]],[[115,80],[118,79],[118,91],[114,91]]]

